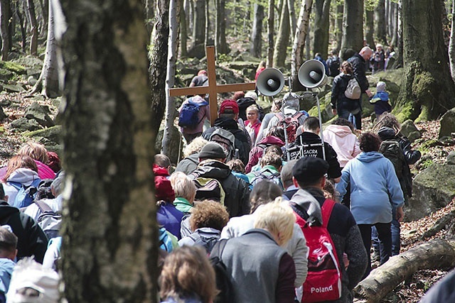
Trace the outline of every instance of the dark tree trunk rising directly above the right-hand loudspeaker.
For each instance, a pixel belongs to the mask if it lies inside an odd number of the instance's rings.
[[[314,54],[321,53],[322,57],[326,58],[331,0],[316,0],[315,4],[313,52]]]

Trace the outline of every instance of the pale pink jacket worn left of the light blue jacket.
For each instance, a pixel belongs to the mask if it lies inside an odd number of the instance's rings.
[[[357,137],[349,126],[329,125],[323,131],[323,138],[336,151],[336,158],[340,162],[340,167],[345,167],[349,160],[355,158],[362,151],[358,146]]]

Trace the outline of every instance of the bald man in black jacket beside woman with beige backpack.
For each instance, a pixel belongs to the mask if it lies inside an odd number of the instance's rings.
[[[368,84],[368,79],[366,76],[366,71],[368,69],[368,65],[370,64],[370,57],[373,55],[373,50],[365,46],[360,50],[359,53],[355,53],[352,57],[348,59],[348,62],[353,66],[354,76],[357,79],[358,84],[360,85],[360,89],[363,93],[367,94],[368,97],[373,96],[372,92],[370,92],[370,84]],[[360,96],[360,107],[362,97]],[[355,124],[355,128],[358,130],[362,129],[362,111],[356,115],[355,117],[350,116],[350,121]]]

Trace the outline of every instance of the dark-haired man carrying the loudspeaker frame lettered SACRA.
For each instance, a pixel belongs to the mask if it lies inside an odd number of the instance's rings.
[[[309,117],[304,121],[304,132],[301,133],[296,138],[295,147],[300,147],[302,151],[302,155],[300,156],[309,156],[309,157],[317,157],[323,159],[323,152],[321,146],[321,137],[319,137],[319,133],[321,132],[321,128],[319,126],[319,119],[316,117]],[[295,159],[300,150],[291,153],[291,159]],[[333,150],[330,144],[324,142],[324,151],[326,154],[326,161],[328,162],[328,177],[332,179],[334,182],[340,182],[341,178],[341,168],[340,163],[338,162],[336,151]],[[293,157],[294,155],[294,157]]]

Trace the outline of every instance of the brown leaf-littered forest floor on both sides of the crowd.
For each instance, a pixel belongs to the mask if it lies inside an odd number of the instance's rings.
[[[32,98],[33,97],[33,98]],[[36,98],[38,97],[38,98]],[[4,112],[8,116],[0,124],[0,165],[6,165],[7,160],[11,155],[18,150],[21,143],[23,143],[23,137],[20,132],[14,131],[10,128],[9,123],[23,116],[25,109],[31,105],[32,102],[37,101],[38,103],[49,106],[51,113],[55,116],[58,112],[58,109],[53,106],[52,99],[44,99],[38,95],[31,96],[25,92],[23,93],[0,93],[0,104],[4,108]],[[9,104],[9,105],[7,105]],[[368,131],[372,123],[370,119],[364,119],[365,126],[364,131]],[[427,141],[434,140],[438,138],[439,133],[439,121],[429,121],[416,124],[419,131],[422,132],[422,138],[418,139],[413,144],[413,148],[420,148]],[[451,146],[429,146],[425,147],[422,150],[422,154],[431,157],[432,162],[444,163],[446,161],[446,155],[451,150],[455,150],[455,145]],[[425,165],[419,165],[419,167],[412,167],[414,173],[418,173],[419,170],[424,169]],[[434,225],[434,223],[444,216],[444,214],[449,213],[450,211],[455,210],[455,202],[451,202],[444,209],[431,214],[430,216],[420,219],[418,221],[411,221],[402,224],[402,248],[401,252],[404,252],[414,246],[421,244],[421,236],[424,231],[427,231],[428,228]],[[440,231],[436,236],[432,238],[444,238],[446,231]],[[425,240],[429,241],[431,238]],[[373,266],[375,264],[373,263]],[[434,282],[439,280],[446,274],[444,270],[422,270],[414,273],[410,279],[405,282],[402,282],[398,285],[393,292],[388,294],[385,299],[382,299],[381,302],[406,302],[414,303],[418,302],[419,299],[423,296],[429,287],[431,287]]]

